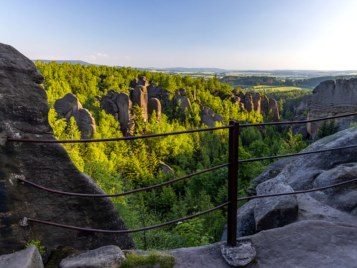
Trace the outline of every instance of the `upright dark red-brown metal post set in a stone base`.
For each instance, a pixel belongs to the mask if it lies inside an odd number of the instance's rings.
[[[237,244],[237,192],[238,192],[238,146],[239,122],[230,121],[228,136],[228,204],[227,213],[227,243],[234,247]]]

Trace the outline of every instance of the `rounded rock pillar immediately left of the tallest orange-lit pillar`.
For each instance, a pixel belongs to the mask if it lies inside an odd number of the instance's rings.
[[[134,112],[131,109],[131,101],[129,95],[122,92],[116,99],[116,106],[119,111],[118,121],[120,122],[120,130],[125,137],[128,137],[134,133]]]

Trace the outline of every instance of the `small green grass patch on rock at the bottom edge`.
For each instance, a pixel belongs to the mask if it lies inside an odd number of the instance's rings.
[[[151,252],[147,255],[137,255],[135,252],[126,255],[126,261],[120,268],[136,267],[137,265],[145,265],[154,267],[155,263],[160,263],[160,268],[172,268],[175,265],[175,256],[162,254],[159,252]]]

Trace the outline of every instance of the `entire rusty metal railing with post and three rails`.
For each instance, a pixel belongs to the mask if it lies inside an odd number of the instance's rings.
[[[160,134],[151,134],[151,135],[142,135],[142,136],[135,136],[135,137],[121,137],[121,138],[110,138],[110,139],[86,139],[86,140],[34,140],[34,139],[13,139],[13,138],[8,138],[7,140],[9,142],[36,142],[36,143],[88,143],[88,142],[109,142],[109,141],[119,141],[119,140],[134,140],[134,139],[144,139],[144,138],[152,138],[152,137],[162,137],[162,136],[168,136],[168,135],[177,135],[177,134],[185,134],[185,133],[193,133],[193,132],[200,132],[200,131],[211,131],[211,130],[218,130],[218,129],[229,129],[228,133],[228,163],[222,164],[216,167],[212,167],[209,169],[202,170],[200,172],[196,172],[193,174],[189,174],[177,179],[170,180],[168,182],[164,182],[161,184],[157,185],[152,185],[150,187],[145,187],[141,189],[136,189],[136,190],[131,190],[129,192],[125,193],[117,193],[117,194],[78,194],[78,193],[67,193],[67,192],[61,192],[49,188],[42,187],[40,185],[37,185],[35,183],[29,182],[28,180],[18,178],[21,182],[30,184],[34,187],[37,187],[39,189],[51,192],[51,193],[56,193],[56,194],[63,194],[63,195],[71,195],[71,196],[77,196],[77,197],[116,197],[116,196],[121,196],[121,195],[126,195],[126,194],[132,194],[136,192],[141,192],[144,190],[149,190],[157,187],[161,187],[163,185],[167,185],[170,183],[177,182],[182,179],[190,178],[192,176],[202,174],[211,170],[215,170],[218,168],[222,167],[228,167],[228,200],[226,203],[219,205],[218,207],[188,216],[184,217],[181,219],[177,220],[172,220],[170,222],[166,223],[161,223],[158,225],[150,226],[150,227],[145,227],[145,228],[140,228],[140,229],[134,229],[134,230],[99,230],[99,229],[89,229],[89,228],[81,228],[81,227],[75,227],[75,226],[69,226],[69,225],[63,225],[63,224],[58,224],[58,223],[52,223],[52,222],[46,222],[42,220],[37,220],[37,219],[31,219],[31,218],[26,218],[24,217],[23,223],[28,224],[28,222],[36,222],[36,223],[42,223],[42,224],[49,224],[52,226],[57,226],[57,227],[62,227],[62,228],[69,228],[69,229],[75,229],[75,230],[85,230],[85,231],[90,231],[90,232],[100,232],[100,233],[132,233],[132,232],[140,232],[144,230],[150,230],[158,227],[162,227],[165,225],[169,225],[175,222],[179,222],[182,220],[186,219],[191,219],[194,217],[198,217],[200,215],[212,212],[214,210],[220,209],[222,207],[225,207],[228,205],[228,213],[227,213],[227,243],[231,244],[232,246],[236,245],[236,232],[237,232],[237,202],[241,200],[249,200],[249,199],[254,199],[254,198],[264,198],[264,197],[274,197],[274,196],[280,196],[280,195],[290,195],[290,194],[301,194],[301,193],[308,193],[308,192],[314,192],[318,190],[323,190],[323,189],[328,189],[336,186],[340,186],[343,184],[347,183],[352,183],[357,181],[357,179],[349,180],[347,182],[342,182],[334,185],[329,185],[326,187],[321,187],[321,188],[316,188],[316,189],[310,189],[310,190],[303,190],[303,191],[298,191],[298,192],[288,192],[288,193],[277,193],[277,194],[265,194],[265,195],[256,195],[256,196],[251,196],[251,197],[244,197],[244,198],[238,198],[237,199],[237,193],[238,193],[238,164],[239,163],[246,163],[246,162],[253,162],[253,161],[260,161],[260,160],[266,160],[266,159],[275,159],[275,158],[283,158],[283,157],[291,157],[291,156],[296,156],[296,155],[304,155],[304,154],[312,154],[312,153],[321,153],[321,152],[328,152],[332,150],[341,150],[341,149],[349,149],[349,148],[355,148],[357,145],[350,145],[350,146],[345,146],[345,147],[338,147],[338,148],[330,148],[330,149],[323,149],[323,150],[316,150],[316,151],[310,151],[310,152],[301,152],[301,153],[295,153],[295,154],[286,154],[286,155],[276,155],[272,157],[262,157],[262,158],[253,158],[253,159],[244,159],[244,160],[238,160],[238,147],[239,147],[239,129],[240,127],[248,127],[248,126],[265,126],[265,125],[282,125],[282,124],[302,124],[302,123],[311,123],[315,121],[321,121],[321,120],[330,120],[330,119],[335,119],[335,118],[341,118],[341,117],[346,117],[346,116],[354,116],[357,115],[357,113],[351,113],[351,114],[344,114],[344,115],[337,115],[337,116],[330,116],[330,117],[325,117],[325,118],[318,118],[318,119],[311,119],[311,120],[304,120],[304,121],[289,121],[289,122],[271,122],[271,123],[258,123],[258,124],[239,124],[237,121],[230,121],[230,124],[228,126],[219,126],[215,128],[205,128],[205,129],[193,129],[193,130],[185,130],[185,131],[177,131],[177,132],[170,132],[170,133],[160,133]]]

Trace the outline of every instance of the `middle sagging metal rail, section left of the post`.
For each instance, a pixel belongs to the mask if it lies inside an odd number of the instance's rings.
[[[62,192],[62,191],[57,191],[57,190],[52,190],[52,189],[49,189],[49,188],[45,188],[45,187],[42,187],[42,186],[40,186],[38,184],[35,184],[33,182],[29,182],[28,180],[25,180],[25,179],[22,179],[22,178],[18,178],[18,180],[20,180],[21,182],[30,184],[30,185],[32,185],[34,187],[37,187],[37,188],[39,188],[41,190],[45,190],[47,192],[56,193],[56,194],[63,194],[63,195],[70,195],[70,196],[77,196],[77,197],[117,197],[117,196],[121,196],[121,195],[132,194],[132,193],[137,193],[137,192],[141,192],[141,191],[145,191],[145,190],[150,190],[150,189],[154,189],[154,188],[157,188],[157,187],[161,187],[161,186],[164,186],[166,184],[170,184],[170,183],[173,183],[173,182],[177,182],[179,180],[190,178],[192,176],[199,175],[199,174],[211,171],[211,170],[215,170],[215,169],[218,169],[218,168],[223,168],[223,167],[226,167],[226,166],[228,166],[230,164],[232,164],[232,163],[226,163],[226,164],[219,165],[219,166],[216,166],[216,167],[213,167],[213,168],[208,168],[208,169],[205,169],[205,170],[201,170],[201,171],[198,171],[196,173],[192,173],[192,174],[189,174],[189,175],[177,178],[177,179],[169,180],[168,182],[152,185],[152,186],[141,188],[141,189],[131,190],[129,192],[118,193],[118,194],[77,194],[77,193],[67,193],[67,192]]]

